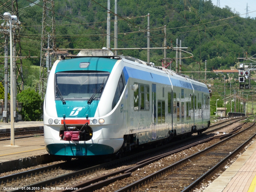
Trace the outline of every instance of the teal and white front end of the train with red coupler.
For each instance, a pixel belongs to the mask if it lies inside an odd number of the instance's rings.
[[[123,121],[113,125],[118,92],[123,91],[116,88],[121,86],[120,61],[81,57],[54,63],[44,100],[44,143],[49,154],[105,155],[121,148],[129,130]],[[124,88],[124,80],[121,83]]]

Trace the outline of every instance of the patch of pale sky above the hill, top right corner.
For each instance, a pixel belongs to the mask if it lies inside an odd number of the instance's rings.
[[[212,0],[212,3],[214,5],[217,4],[217,0]],[[231,10],[234,11],[236,9],[236,12],[239,12],[240,14],[246,13],[246,4],[248,3],[248,12],[249,16],[256,17],[256,0],[220,0],[220,7],[225,7],[225,5],[231,7]],[[254,12],[253,12],[254,11]],[[245,18],[245,14],[241,15],[241,17]]]

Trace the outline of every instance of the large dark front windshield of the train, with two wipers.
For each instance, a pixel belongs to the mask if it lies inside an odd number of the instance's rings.
[[[55,98],[61,99],[99,99],[109,73],[56,73]],[[60,90],[57,92],[57,88]],[[101,87],[101,88],[100,88]]]

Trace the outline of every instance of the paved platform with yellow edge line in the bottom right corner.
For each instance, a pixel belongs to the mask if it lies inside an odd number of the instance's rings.
[[[256,141],[203,192],[256,192]]]

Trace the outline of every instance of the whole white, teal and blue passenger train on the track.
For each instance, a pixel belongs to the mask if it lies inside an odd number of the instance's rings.
[[[62,56],[44,99],[44,143],[69,157],[130,151],[210,125],[207,86],[170,69],[107,49]]]

